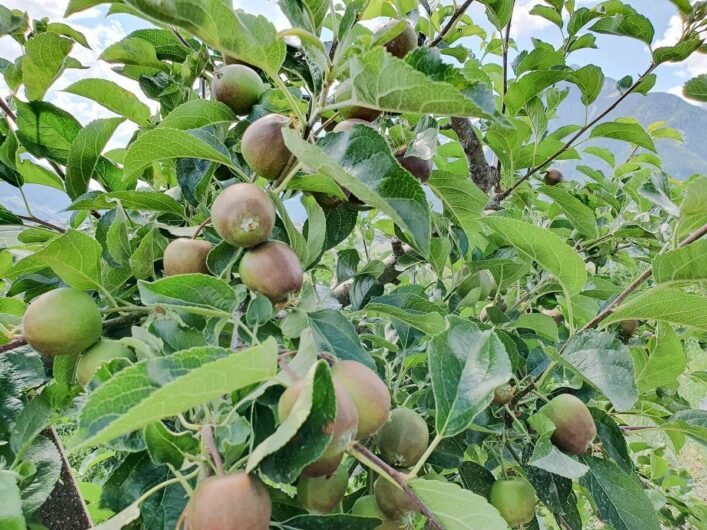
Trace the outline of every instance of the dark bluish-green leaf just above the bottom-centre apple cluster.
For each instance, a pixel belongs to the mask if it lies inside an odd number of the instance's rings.
[[[353,324],[343,314],[332,309],[308,313],[309,325],[320,351],[336,355],[342,360],[353,360],[375,367],[373,359],[361,346]]]

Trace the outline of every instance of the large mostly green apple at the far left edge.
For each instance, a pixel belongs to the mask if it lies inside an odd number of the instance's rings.
[[[103,321],[93,298],[71,287],[35,298],[22,319],[28,344],[44,355],[80,353],[101,338]]]

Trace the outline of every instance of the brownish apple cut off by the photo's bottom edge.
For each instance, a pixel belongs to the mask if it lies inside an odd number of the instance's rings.
[[[243,471],[201,481],[187,507],[189,530],[268,530],[272,504],[258,478]]]

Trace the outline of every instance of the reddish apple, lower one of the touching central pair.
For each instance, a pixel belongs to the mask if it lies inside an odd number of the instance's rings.
[[[280,241],[266,241],[241,259],[241,280],[249,289],[281,302],[302,288],[304,272],[297,254]]]

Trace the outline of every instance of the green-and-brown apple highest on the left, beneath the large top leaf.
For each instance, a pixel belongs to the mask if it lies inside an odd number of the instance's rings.
[[[214,75],[211,93],[238,116],[249,114],[267,89],[255,70],[242,64],[229,64]]]

